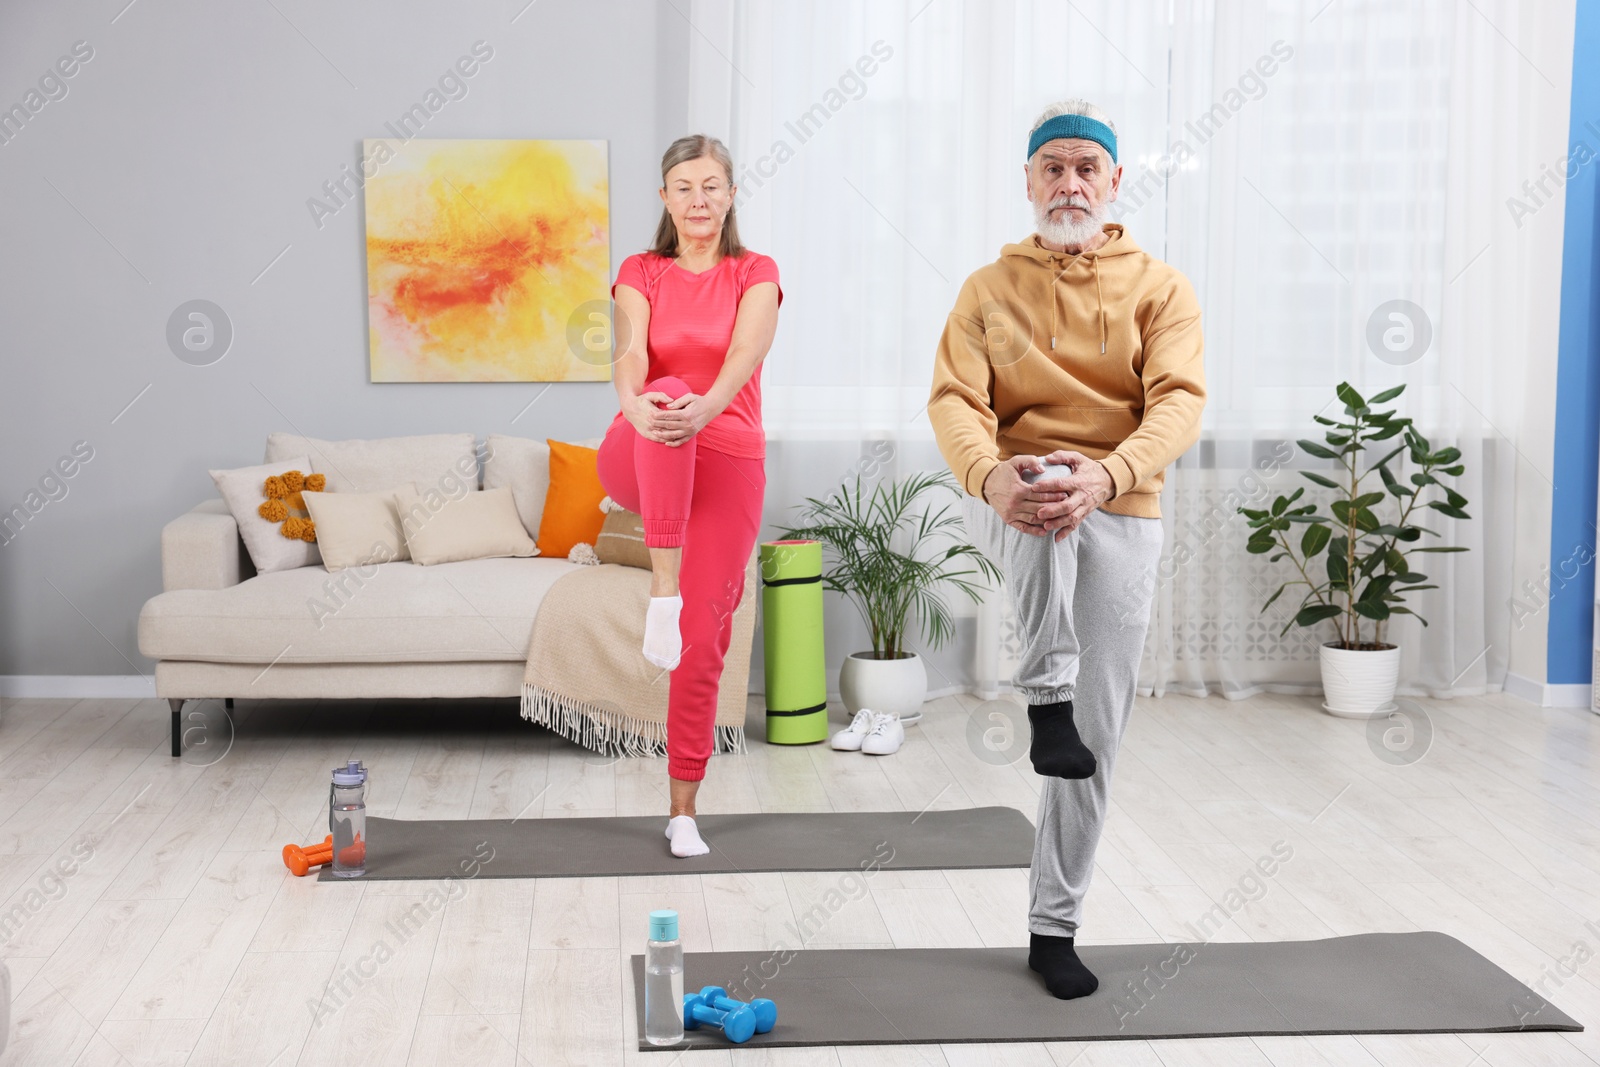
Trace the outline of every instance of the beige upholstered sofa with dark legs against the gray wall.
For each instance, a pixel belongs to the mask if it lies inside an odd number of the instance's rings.
[[[574,443],[595,448],[600,438]],[[328,470],[331,491],[362,491],[432,482],[450,464],[464,464],[466,448],[482,464],[472,488],[510,485],[536,533],[542,498],[538,477],[530,490],[526,475],[538,469],[541,445],[493,435],[478,443],[470,435],[320,442],[274,434],[266,462],[309,453],[312,470]],[[518,697],[539,603],[581,569],[590,568],[534,555],[338,573],[315,563],[261,574],[227,502],[206,499],[162,530],[163,592],[139,613],[139,651],[157,661],[155,693],[171,707],[173,757],[182,755],[182,707],[194,699]],[[648,595],[650,571],[619,571]],[[741,702],[755,601],[746,595],[734,611],[723,664],[722,689]],[[640,613],[640,645],[643,624]]]

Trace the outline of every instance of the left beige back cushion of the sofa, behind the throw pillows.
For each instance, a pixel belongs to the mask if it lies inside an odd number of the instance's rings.
[[[414,482],[459,496],[478,488],[477,438],[472,434],[426,434],[373,440],[323,442],[293,434],[267,435],[267,462],[310,454],[312,470],[326,475],[328,493],[381,493]]]

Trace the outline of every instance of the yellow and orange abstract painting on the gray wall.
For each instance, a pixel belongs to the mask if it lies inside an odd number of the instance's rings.
[[[606,142],[395,146],[362,146],[371,381],[611,381]]]

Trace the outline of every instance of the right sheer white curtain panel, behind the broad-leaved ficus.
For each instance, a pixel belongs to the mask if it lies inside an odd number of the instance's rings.
[[[1530,150],[1530,115],[1565,112],[1565,72],[1530,61],[1562,54],[1538,46],[1541,37],[1570,40],[1562,8],[1174,3],[1170,130],[1197,150],[1184,166],[1160,168],[1170,173],[1162,210],[1166,258],[1205,309],[1211,397],[1203,440],[1163,494],[1168,553],[1144,691],[1315,689],[1317,645],[1330,633],[1291,627],[1278,637],[1299,598],[1285,593],[1266,614],[1261,605],[1288,563],[1250,557],[1234,509],[1299,485],[1315,491],[1294,469],[1320,464],[1291,443],[1322,440],[1312,416],[1342,413],[1331,403],[1341,381],[1363,395],[1405,384],[1400,411],[1466,464],[1454,485],[1472,522],[1421,512],[1437,544],[1470,550],[1411,557],[1440,589],[1414,595],[1427,627],[1405,616],[1389,627],[1403,649],[1402,693],[1502,685],[1507,504],[1518,464],[1542,477],[1514,445],[1525,390],[1517,354],[1534,309],[1525,243],[1504,202],[1542,158]],[[1486,147],[1494,144],[1506,150]],[[1557,157],[1562,144],[1547,150]],[[1157,229],[1155,210],[1128,221]],[[1422,317],[1387,320],[1379,309],[1390,301]],[[1402,344],[1405,328],[1427,328],[1430,347],[1374,349],[1374,314]]]

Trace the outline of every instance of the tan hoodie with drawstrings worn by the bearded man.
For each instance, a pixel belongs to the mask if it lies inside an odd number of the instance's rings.
[[[1118,515],[1158,517],[1166,466],[1200,437],[1200,304],[1123,227],[1093,251],[1032,235],[962,285],[934,357],[928,419],[973,496],[1011,456],[1099,459]]]

